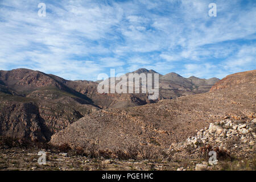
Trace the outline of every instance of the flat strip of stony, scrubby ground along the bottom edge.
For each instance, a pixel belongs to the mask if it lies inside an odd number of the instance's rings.
[[[90,170],[255,170],[256,160],[236,159],[233,162],[220,161],[210,166],[204,159],[197,160],[118,160],[118,159],[88,159],[85,156],[68,155],[66,153],[49,153],[46,165],[38,164],[35,150],[20,150],[13,148],[0,151],[0,170],[53,170],[53,171],[90,171]]]

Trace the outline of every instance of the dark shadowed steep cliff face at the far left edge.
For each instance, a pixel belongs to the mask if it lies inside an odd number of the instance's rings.
[[[38,107],[34,103],[3,104],[0,111],[1,135],[46,141],[47,131],[44,120],[40,117]]]

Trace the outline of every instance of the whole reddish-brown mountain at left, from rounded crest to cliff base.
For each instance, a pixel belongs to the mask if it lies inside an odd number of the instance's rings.
[[[0,71],[0,135],[46,142],[84,114],[92,101],[65,80],[30,69]]]

